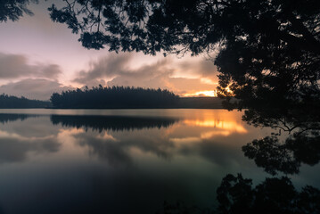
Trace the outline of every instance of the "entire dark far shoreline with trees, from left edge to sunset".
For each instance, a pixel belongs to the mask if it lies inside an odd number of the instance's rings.
[[[50,101],[0,95],[0,109],[223,109],[217,97],[179,97],[164,89],[97,86],[53,93]]]

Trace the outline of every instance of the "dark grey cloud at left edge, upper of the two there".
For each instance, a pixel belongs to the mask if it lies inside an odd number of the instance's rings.
[[[0,78],[58,78],[62,73],[56,64],[29,64],[22,54],[0,53]]]

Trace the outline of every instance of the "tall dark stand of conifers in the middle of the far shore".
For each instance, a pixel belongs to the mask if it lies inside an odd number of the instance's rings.
[[[53,108],[118,109],[170,108],[176,105],[178,98],[166,89],[100,85],[53,93],[50,100]]]

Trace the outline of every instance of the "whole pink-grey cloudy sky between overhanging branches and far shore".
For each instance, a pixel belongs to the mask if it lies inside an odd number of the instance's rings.
[[[217,68],[205,55],[178,58],[87,50],[79,35],[50,20],[55,1],[30,4],[33,16],[0,22],[0,94],[49,100],[54,92],[82,86],[141,86],[180,96],[212,95]]]

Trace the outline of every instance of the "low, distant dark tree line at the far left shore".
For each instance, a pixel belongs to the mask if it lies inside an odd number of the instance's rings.
[[[24,96],[17,97],[12,95],[0,95],[0,109],[10,108],[48,108],[50,102],[29,100]]]

